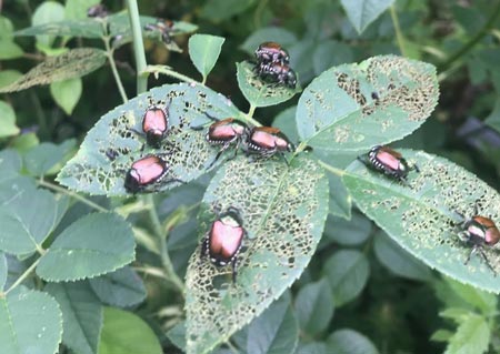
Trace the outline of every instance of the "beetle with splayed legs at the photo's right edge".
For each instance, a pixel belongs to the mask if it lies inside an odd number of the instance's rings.
[[[459,236],[461,236],[461,240],[467,245],[472,247],[463,264],[468,264],[472,254],[479,252],[488,267],[497,276],[497,271],[488,261],[483,247],[494,246],[500,241],[500,231],[491,219],[478,214],[477,205],[474,208],[474,214],[476,215],[458,224],[461,229]]]

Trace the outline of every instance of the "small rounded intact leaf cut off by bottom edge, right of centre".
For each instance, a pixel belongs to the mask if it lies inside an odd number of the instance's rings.
[[[373,343],[352,330],[338,330],[328,337],[329,353],[336,354],[378,354]]]

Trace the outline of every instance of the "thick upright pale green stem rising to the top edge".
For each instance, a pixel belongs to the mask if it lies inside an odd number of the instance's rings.
[[[137,0],[127,0],[129,8],[130,24],[132,27],[133,54],[136,57],[137,75],[137,93],[148,90],[148,77],[143,74],[146,70],[144,43],[142,41],[142,29],[139,20],[139,9]]]

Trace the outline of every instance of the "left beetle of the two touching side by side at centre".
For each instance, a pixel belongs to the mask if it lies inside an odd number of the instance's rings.
[[[209,119],[214,121],[214,123],[212,123],[209,127],[209,130],[207,132],[207,135],[206,135],[207,141],[211,144],[222,145],[222,148],[217,153],[216,159],[213,159],[213,161],[208,166],[208,169],[210,169],[213,165],[213,163],[216,163],[216,161],[219,160],[222,152],[228,150],[231,146],[231,144],[236,144],[236,149],[234,149],[234,156],[236,156],[236,154],[238,152],[238,146],[239,146],[241,139],[248,128],[243,122],[236,120],[234,118],[217,120],[214,117],[211,117],[208,113],[204,113],[204,114]],[[193,130],[200,130],[202,128],[203,128],[203,125],[191,127],[191,129],[193,129]]]

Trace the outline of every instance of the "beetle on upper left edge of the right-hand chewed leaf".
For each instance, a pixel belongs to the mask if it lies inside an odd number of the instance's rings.
[[[410,165],[399,152],[389,146],[376,145],[368,152],[368,161],[366,156],[358,156],[358,160],[402,183],[407,183],[410,171],[420,172],[416,164]]]

